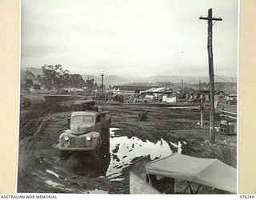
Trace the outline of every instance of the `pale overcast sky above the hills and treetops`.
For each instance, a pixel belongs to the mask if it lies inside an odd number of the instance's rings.
[[[22,0],[22,67],[71,73],[208,76],[213,8],[214,72],[236,77],[237,0]]]

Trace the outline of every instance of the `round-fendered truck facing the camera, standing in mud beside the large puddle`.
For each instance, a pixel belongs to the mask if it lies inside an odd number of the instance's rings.
[[[111,115],[98,111],[91,100],[75,102],[74,110],[70,130],[64,130],[59,136],[61,158],[66,158],[70,152],[99,158],[102,146],[110,145]]]

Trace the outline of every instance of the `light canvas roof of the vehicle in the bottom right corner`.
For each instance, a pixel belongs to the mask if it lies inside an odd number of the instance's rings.
[[[218,159],[172,154],[146,164],[146,173],[177,178],[236,193],[236,169]],[[191,189],[191,188],[190,188]]]

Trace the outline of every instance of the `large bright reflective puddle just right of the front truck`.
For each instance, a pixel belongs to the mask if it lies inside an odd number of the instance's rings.
[[[161,139],[158,142],[143,142],[140,138],[126,136],[114,137],[114,131],[110,128],[110,165],[106,170],[107,178],[122,181],[122,170],[133,163],[134,158],[150,155],[150,159],[162,158],[172,154],[168,142]],[[177,146],[177,145],[176,145]],[[114,181],[113,180],[113,181]]]

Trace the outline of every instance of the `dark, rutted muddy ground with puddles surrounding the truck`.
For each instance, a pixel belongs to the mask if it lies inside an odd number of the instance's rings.
[[[62,160],[56,146],[59,134],[68,129],[66,118],[74,99],[45,102],[36,95],[34,99],[29,108],[21,110],[18,192],[129,194],[130,171],[145,178],[146,162],[177,151],[218,158],[236,167],[236,135],[217,133],[216,143],[211,145],[208,110],[204,113],[205,126],[200,127],[198,110],[142,103],[98,102],[112,115],[110,149],[105,150],[100,166],[81,162],[76,154]],[[138,121],[141,110],[148,112],[146,122]],[[225,110],[234,111],[236,105],[225,105]],[[218,112],[215,118],[219,124],[222,118]],[[230,122],[236,125],[234,120]],[[176,190],[182,191],[184,182],[177,183]],[[200,193],[212,194],[214,190],[202,187]]]

